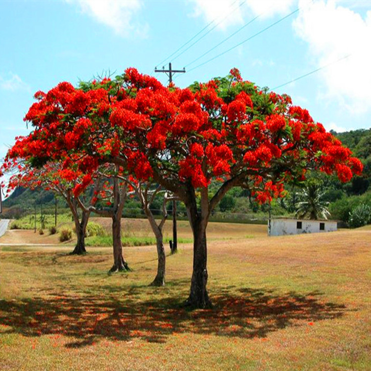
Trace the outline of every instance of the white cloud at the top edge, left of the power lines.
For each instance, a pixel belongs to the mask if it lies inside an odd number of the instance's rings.
[[[148,25],[136,24],[133,16],[142,7],[141,0],[65,0],[76,3],[83,13],[99,23],[111,27],[118,35],[129,37],[133,33],[145,37]]]

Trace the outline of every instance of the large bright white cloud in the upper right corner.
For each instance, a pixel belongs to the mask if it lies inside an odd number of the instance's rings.
[[[296,34],[309,44],[315,67],[349,55],[318,73],[325,86],[319,97],[354,113],[371,110],[371,11],[366,14],[362,18],[335,0],[319,0],[303,6],[293,22]]]

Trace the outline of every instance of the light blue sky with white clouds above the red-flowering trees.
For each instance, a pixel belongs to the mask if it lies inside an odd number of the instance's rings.
[[[244,79],[271,89],[328,65],[275,91],[291,95],[328,130],[371,126],[370,0],[0,0],[0,50],[0,158],[29,132],[23,117],[36,91],[127,67],[166,84],[154,67],[168,62],[186,67],[175,79],[180,87],[237,67]]]

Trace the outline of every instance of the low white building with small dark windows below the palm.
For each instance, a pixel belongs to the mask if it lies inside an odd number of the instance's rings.
[[[271,219],[270,221],[268,221],[269,236],[334,231],[337,231],[337,222],[335,220],[306,220],[282,218]]]

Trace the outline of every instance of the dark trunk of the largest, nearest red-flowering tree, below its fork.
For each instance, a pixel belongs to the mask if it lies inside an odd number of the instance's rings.
[[[188,213],[189,215],[189,213]],[[191,216],[193,230],[193,273],[190,284],[190,293],[185,305],[191,308],[211,308],[211,301],[207,293],[207,244],[206,225]]]

